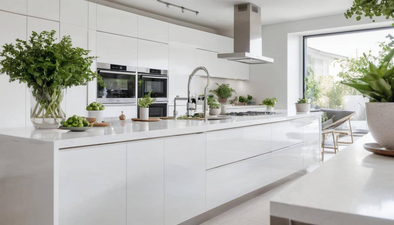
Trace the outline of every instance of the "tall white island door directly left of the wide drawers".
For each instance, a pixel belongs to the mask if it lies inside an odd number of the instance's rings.
[[[164,224],[205,211],[205,134],[164,140]]]

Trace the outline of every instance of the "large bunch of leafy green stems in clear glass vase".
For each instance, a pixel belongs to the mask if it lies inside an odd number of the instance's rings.
[[[32,32],[28,41],[16,39],[3,45],[0,74],[7,74],[9,82],[26,83],[31,94],[30,119],[35,128],[57,128],[65,119],[61,106],[65,103],[66,88],[86,85],[101,76],[89,69],[95,57],[83,48],[72,47],[70,36],[59,42],[56,31]]]

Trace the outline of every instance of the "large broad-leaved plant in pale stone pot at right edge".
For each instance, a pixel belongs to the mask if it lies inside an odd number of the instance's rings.
[[[391,35],[388,37],[394,39]],[[393,44],[394,41],[389,46]],[[375,141],[390,150],[394,150],[394,67],[391,63],[393,56],[394,49],[379,60],[379,66],[369,61],[369,67],[365,68],[365,74],[361,78],[341,82],[370,99],[370,102],[365,103],[368,127]]]

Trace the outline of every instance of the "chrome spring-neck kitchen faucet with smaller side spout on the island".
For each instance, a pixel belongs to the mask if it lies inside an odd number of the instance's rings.
[[[195,106],[195,103],[192,102],[192,100],[190,100],[190,85],[191,85],[191,80],[193,79],[194,74],[197,73],[197,71],[200,71],[200,70],[203,70],[206,73],[206,75],[207,75],[207,82],[206,82],[206,86],[204,88],[204,107],[203,107],[203,109],[204,109],[204,121],[207,121],[208,114],[206,113],[206,110],[208,108],[208,105],[207,105],[207,97],[206,97],[206,95],[207,95],[208,86],[209,86],[209,73],[208,73],[208,70],[205,67],[197,67],[196,69],[193,70],[193,72],[191,72],[191,74],[189,76],[189,81],[188,81],[188,97],[187,98],[176,97],[174,99],[174,119],[175,120],[177,119],[177,116],[178,116],[177,104],[175,103],[176,100],[188,100],[188,102],[186,103],[186,110],[188,111],[187,115],[188,115],[188,117],[192,116],[192,112],[193,112],[193,110],[195,110],[196,106]]]

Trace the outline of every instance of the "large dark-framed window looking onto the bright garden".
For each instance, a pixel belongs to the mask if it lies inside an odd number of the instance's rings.
[[[330,33],[304,37],[304,95],[312,108],[356,111],[352,127],[368,130],[361,93],[339,82],[362,76],[368,61],[375,65],[391,49],[394,28]]]

